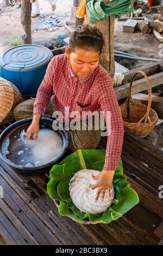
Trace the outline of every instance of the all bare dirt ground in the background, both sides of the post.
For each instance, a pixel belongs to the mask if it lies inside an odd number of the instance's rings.
[[[20,38],[23,34],[21,26],[21,11],[14,7],[3,8],[2,0],[0,0],[0,53],[5,51],[7,48],[12,47],[11,41]],[[71,7],[73,0],[58,0],[57,8],[52,13],[51,5],[46,0],[39,0],[41,15],[43,14],[55,14],[57,17],[64,16],[63,21],[70,20]],[[36,31],[36,27],[40,22],[40,17],[32,19],[32,39],[33,44],[45,45],[47,42],[57,38],[58,35],[69,36],[70,32],[63,26],[57,31]],[[136,54],[144,57],[161,58],[159,57],[159,45],[161,44],[152,33],[142,34],[141,32],[135,32],[134,34],[123,33],[124,21],[117,21],[115,23],[115,50]],[[163,45],[163,44],[162,44]],[[140,60],[130,60],[116,58],[117,62],[126,66],[129,69],[133,69],[136,66],[145,65],[149,62],[142,62]]]

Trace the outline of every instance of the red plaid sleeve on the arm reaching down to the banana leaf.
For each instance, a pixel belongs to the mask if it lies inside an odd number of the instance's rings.
[[[99,84],[99,103],[102,111],[104,111],[108,130],[104,169],[116,170],[122,152],[124,129],[121,110],[113,88],[113,81],[109,75],[105,75]],[[106,111],[111,112],[111,123],[106,120]]]

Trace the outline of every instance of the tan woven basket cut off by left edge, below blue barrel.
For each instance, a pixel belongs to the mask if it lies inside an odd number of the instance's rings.
[[[14,120],[13,109],[22,101],[23,97],[17,87],[0,77],[0,125]]]

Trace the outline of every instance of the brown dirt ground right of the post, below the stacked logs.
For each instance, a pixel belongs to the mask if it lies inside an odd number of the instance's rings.
[[[149,57],[149,58],[159,58],[160,44],[161,42],[155,38],[154,34],[147,33],[142,34],[139,31],[135,33],[124,33],[123,24],[125,21],[117,21],[115,23],[115,36],[114,36],[114,47],[115,50],[135,54],[137,56]],[[162,44],[163,46],[163,44]],[[142,61],[142,60],[120,60],[120,57],[116,58],[117,62],[126,66],[128,69],[133,69],[142,65],[146,65],[152,62]]]

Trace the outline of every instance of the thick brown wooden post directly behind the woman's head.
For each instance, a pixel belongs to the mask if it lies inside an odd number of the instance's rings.
[[[99,27],[103,33],[105,45],[103,47],[99,64],[103,66],[109,73],[109,75],[114,78],[115,74],[115,58],[114,58],[114,26],[115,26],[115,16],[109,16],[104,20],[89,22],[90,24]]]

